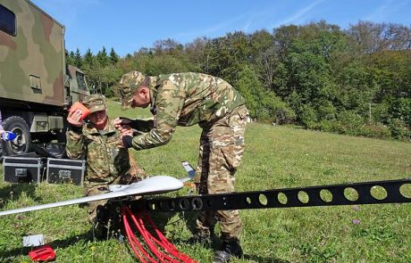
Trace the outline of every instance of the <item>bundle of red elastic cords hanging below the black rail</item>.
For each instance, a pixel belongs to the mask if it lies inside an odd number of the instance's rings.
[[[138,233],[144,238],[151,253],[147,252],[144,246],[138,242],[138,238],[133,233],[132,227],[130,226],[129,218],[131,219],[133,226],[138,230]],[[144,223],[145,220],[154,229],[155,236],[147,230]],[[128,207],[124,206],[122,207],[122,221],[131,249],[141,262],[197,263],[196,260],[189,258],[186,254],[177,250],[177,248],[165,238],[164,234],[158,230],[153,219],[150,218],[147,213],[143,213],[142,215],[139,213],[133,214]]]

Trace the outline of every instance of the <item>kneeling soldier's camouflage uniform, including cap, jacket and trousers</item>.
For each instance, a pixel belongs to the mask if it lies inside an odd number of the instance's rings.
[[[105,110],[101,95],[89,95],[83,101],[90,112]],[[83,127],[71,127],[68,131],[66,152],[71,159],[86,158],[87,175],[84,180],[85,195],[106,193],[108,185],[127,185],[146,173],[137,166],[130,166],[129,150],[120,142],[120,133],[107,117],[104,130],[97,130],[92,122]],[[96,218],[96,207],[106,201],[94,201],[89,204],[89,220]]]

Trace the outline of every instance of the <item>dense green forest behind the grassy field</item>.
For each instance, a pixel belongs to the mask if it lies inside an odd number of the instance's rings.
[[[181,45],[157,40],[120,57],[111,48],[68,53],[88,86],[117,96],[122,74],[204,72],[246,98],[252,119],[276,125],[376,138],[411,139],[411,28],[358,21],[287,25]]]

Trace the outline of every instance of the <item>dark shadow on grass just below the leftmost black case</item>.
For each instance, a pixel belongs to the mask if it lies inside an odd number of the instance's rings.
[[[36,196],[35,192],[35,184],[15,184],[2,187],[0,188],[0,209],[4,207],[7,201],[18,200],[21,193],[26,193],[34,201],[41,201],[42,199]]]

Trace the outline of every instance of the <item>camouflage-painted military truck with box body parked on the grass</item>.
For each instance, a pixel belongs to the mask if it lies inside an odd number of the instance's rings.
[[[64,27],[29,0],[0,0],[0,111],[4,155],[65,141],[67,109],[88,95],[84,74],[65,62]]]

